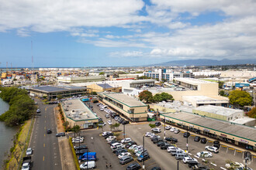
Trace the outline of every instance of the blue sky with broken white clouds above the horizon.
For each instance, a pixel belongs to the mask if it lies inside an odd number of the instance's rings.
[[[255,0],[0,0],[0,67],[254,59],[255,9]]]

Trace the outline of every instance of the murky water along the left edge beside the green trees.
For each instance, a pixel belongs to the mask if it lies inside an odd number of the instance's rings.
[[[0,114],[5,113],[7,110],[9,110],[9,104],[0,98]],[[2,169],[5,152],[11,148],[12,137],[18,130],[18,127],[7,127],[4,122],[0,121],[0,169]]]

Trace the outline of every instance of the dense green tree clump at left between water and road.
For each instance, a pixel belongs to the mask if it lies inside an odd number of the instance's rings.
[[[0,97],[9,102],[9,110],[0,116],[0,121],[4,121],[9,126],[22,124],[35,113],[36,106],[33,100],[27,95],[26,90],[16,87],[0,88]]]

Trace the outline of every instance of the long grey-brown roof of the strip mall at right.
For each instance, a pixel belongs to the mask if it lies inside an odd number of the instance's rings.
[[[174,118],[178,121],[185,121],[188,124],[199,125],[209,130],[220,131],[226,134],[232,134],[239,138],[245,138],[256,141],[256,128],[247,127],[240,124],[231,124],[228,121],[220,121],[209,117],[202,117],[196,114],[188,114],[184,112],[163,114],[166,117]]]

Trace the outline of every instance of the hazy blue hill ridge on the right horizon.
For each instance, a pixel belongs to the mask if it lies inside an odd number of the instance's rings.
[[[256,64],[256,59],[186,59],[154,64],[154,66],[225,66],[236,64]]]

